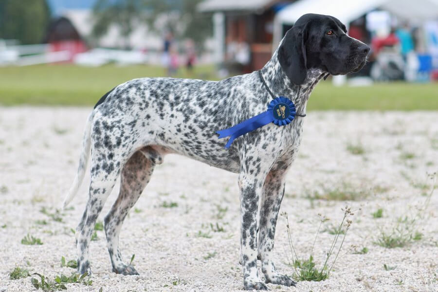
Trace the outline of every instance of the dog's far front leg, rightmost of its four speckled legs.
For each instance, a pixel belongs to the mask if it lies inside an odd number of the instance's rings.
[[[286,275],[277,274],[272,252],[274,249],[275,225],[278,211],[284,196],[286,170],[273,169],[263,185],[260,200],[260,227],[258,231],[258,256],[261,259],[262,272],[266,283],[295,286],[295,282]]]

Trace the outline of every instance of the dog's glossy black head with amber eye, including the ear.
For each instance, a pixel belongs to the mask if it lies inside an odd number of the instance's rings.
[[[300,17],[278,48],[278,61],[292,83],[302,84],[308,69],[332,75],[362,69],[369,47],[346,33],[337,18],[320,14]]]

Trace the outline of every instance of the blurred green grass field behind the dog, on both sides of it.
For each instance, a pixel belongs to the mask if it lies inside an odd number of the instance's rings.
[[[0,104],[93,105],[114,86],[140,77],[165,76],[154,66],[90,68],[37,65],[0,68]],[[218,80],[211,66],[183,70],[176,77]],[[334,87],[322,81],[313,91],[309,110],[438,110],[438,84],[390,83],[370,87]]]

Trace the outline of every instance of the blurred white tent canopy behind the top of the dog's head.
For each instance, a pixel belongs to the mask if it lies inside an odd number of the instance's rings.
[[[282,37],[283,24],[293,24],[303,14],[331,15],[348,25],[374,9],[386,10],[413,22],[438,18],[438,0],[299,0],[275,15],[274,44]]]

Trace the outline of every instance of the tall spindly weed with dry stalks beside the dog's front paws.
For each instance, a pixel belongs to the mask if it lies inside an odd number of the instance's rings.
[[[351,208],[346,206],[345,209],[342,209],[344,211],[344,218],[342,219],[341,223],[337,227],[337,232],[335,233],[335,236],[331,242],[329,251],[327,252],[326,260],[321,268],[317,268],[316,264],[313,260],[313,248],[315,246],[316,238],[318,237],[321,226],[324,222],[326,222],[328,219],[321,214],[318,214],[320,217],[320,223],[318,226],[318,230],[316,231],[315,239],[313,240],[312,247],[310,249],[310,256],[309,259],[299,259],[295,248],[293,247],[292,243],[292,232],[289,225],[289,219],[288,214],[286,212],[281,213],[281,216],[286,218],[287,221],[287,232],[288,232],[288,241],[289,241],[289,248],[291,250],[291,256],[292,256],[292,266],[295,269],[294,274],[292,277],[296,279],[297,281],[323,281],[326,280],[331,270],[333,269],[333,266],[339,256],[339,253],[341,252],[342,245],[344,244],[345,237],[347,236],[347,232],[351,226],[352,221],[349,219],[350,216],[353,216],[354,213],[351,211]],[[360,210],[360,209],[359,209]],[[336,249],[336,244],[338,243],[339,236],[342,234],[342,230],[345,230],[345,233],[343,234],[343,238]],[[329,263],[330,258],[334,256],[331,263]]]

